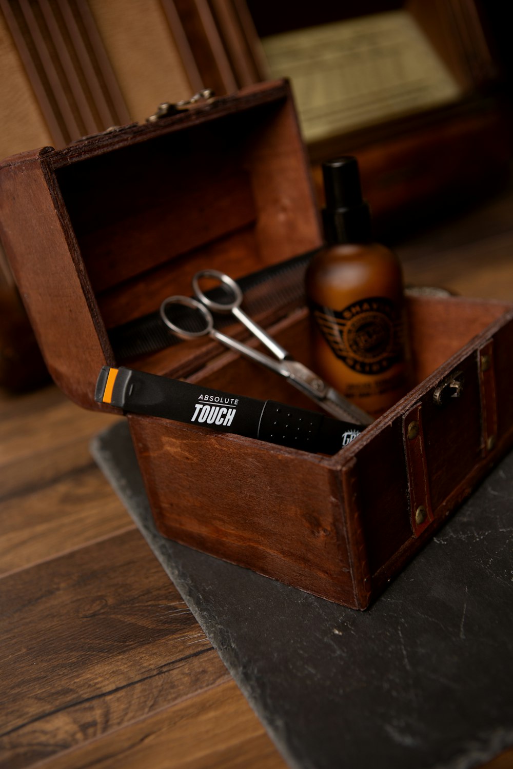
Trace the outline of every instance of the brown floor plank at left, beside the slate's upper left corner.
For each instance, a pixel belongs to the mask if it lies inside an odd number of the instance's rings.
[[[133,528],[88,448],[114,419],[55,387],[0,395],[0,574]]]

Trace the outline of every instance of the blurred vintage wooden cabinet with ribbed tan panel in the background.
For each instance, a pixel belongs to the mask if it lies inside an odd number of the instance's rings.
[[[311,161],[357,154],[375,218],[397,227],[392,214],[404,221],[429,202],[433,216],[455,195],[475,198],[511,157],[508,88],[485,12],[479,0],[320,0],[294,13],[268,0],[0,0],[0,158],[143,121],[201,88],[224,95],[282,75],[294,85],[294,72],[318,67],[297,94],[300,115],[316,99]],[[301,65],[314,32],[334,53]],[[277,46],[291,49],[282,65]],[[310,135],[321,91],[326,125]],[[349,124],[337,128],[330,100],[337,119],[354,113]]]

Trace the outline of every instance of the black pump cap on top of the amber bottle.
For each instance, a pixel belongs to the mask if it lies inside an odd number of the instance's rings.
[[[358,161],[352,155],[322,164],[326,208],[322,209],[325,239],[334,243],[372,240],[371,209],[361,195]]]

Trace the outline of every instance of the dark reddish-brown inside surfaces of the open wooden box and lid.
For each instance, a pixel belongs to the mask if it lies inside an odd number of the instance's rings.
[[[239,278],[321,243],[308,165],[283,96],[103,151],[55,175],[107,330],[158,310],[168,295],[192,295],[198,269]],[[504,306],[409,298],[408,311],[418,384]],[[234,331],[241,329],[226,332]],[[271,332],[312,366],[305,310]],[[117,362],[313,408],[283,379],[208,338]]]

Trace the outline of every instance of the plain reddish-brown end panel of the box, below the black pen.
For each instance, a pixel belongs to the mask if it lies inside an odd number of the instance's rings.
[[[129,424],[162,534],[355,606],[328,461],[162,419],[131,414]]]

